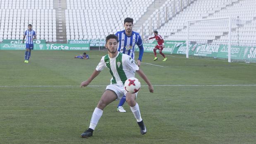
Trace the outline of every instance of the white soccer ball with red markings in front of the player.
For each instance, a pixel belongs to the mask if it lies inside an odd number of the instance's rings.
[[[128,78],[124,83],[124,89],[129,93],[136,93],[141,88],[141,83],[137,78]]]

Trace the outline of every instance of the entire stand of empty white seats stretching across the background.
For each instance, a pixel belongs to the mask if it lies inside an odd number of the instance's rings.
[[[165,40],[186,40],[187,20],[232,17],[232,43],[256,43],[255,0],[163,0],[152,12],[149,7],[160,0],[61,0],[59,5],[65,3],[61,8],[56,8],[55,2],[57,0],[1,0],[0,42],[22,39],[29,23],[38,39],[57,42],[56,12],[61,9],[65,12],[62,16],[65,40],[104,39],[105,35],[123,29],[125,17],[134,18],[134,30],[143,38],[151,37],[157,30]],[[129,7],[124,8],[127,5]],[[148,15],[148,12],[151,13]],[[137,26],[144,17],[146,20]],[[191,38],[194,41],[227,42],[227,28],[221,23],[194,24],[190,31],[196,33]]]

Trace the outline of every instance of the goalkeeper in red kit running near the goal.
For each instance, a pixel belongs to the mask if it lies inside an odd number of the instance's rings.
[[[156,38],[156,41],[158,43],[158,45],[156,45],[156,47],[154,48],[154,54],[155,54],[155,58],[153,59],[153,61],[157,60],[158,58],[156,57],[156,50],[159,50],[159,53],[164,57],[163,61],[166,61],[167,58],[165,57],[165,54],[163,54],[162,50],[165,47],[164,44],[164,40],[161,37],[161,35],[158,35],[158,31],[154,31],[154,37],[148,38],[148,40]]]

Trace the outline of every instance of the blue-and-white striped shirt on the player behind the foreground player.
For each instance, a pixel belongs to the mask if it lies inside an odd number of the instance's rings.
[[[141,36],[139,33],[136,33],[135,31],[132,31],[131,36],[127,36],[125,33],[125,30],[123,31],[118,31],[115,35],[118,37],[118,45],[117,45],[117,50],[119,52],[122,52],[123,54],[127,54],[132,59],[135,57],[135,44],[139,46],[142,45],[142,40]],[[141,55],[142,58],[142,55]],[[139,58],[139,59],[141,59]]]

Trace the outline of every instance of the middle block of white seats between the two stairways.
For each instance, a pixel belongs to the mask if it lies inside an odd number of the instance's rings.
[[[136,23],[153,1],[67,0],[67,10],[65,10],[67,40],[104,39],[105,35],[123,29],[125,17],[134,18]],[[124,8],[126,5],[132,7],[126,9]]]

